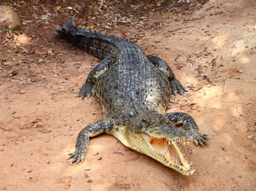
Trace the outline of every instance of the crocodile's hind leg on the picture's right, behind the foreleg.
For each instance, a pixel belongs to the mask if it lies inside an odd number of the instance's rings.
[[[177,92],[179,92],[180,95],[183,95],[183,92],[187,91],[179,82],[179,80],[175,79],[175,74],[172,72],[171,68],[165,61],[163,61],[160,57],[153,55],[148,55],[147,57],[148,60],[152,62],[152,64],[156,65],[156,68],[159,68],[160,71],[162,71],[167,76],[170,81],[171,93],[176,96]]]

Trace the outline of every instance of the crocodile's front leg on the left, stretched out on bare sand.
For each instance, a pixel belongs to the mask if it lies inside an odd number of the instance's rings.
[[[77,164],[81,162],[85,158],[89,138],[104,133],[107,127],[108,124],[101,120],[89,124],[89,126],[80,131],[77,137],[76,151],[69,154],[70,156],[68,159],[73,158],[72,162],[77,162]]]

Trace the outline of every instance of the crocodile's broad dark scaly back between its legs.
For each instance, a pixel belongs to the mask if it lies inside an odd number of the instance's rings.
[[[167,76],[152,64],[139,46],[116,42],[119,57],[96,82],[104,118],[144,111],[164,113],[170,95]]]

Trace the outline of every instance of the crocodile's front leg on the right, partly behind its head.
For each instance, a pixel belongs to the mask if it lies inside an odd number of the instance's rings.
[[[209,145],[209,143],[205,140],[207,138],[207,134],[200,134],[199,133],[199,127],[195,123],[194,119],[191,117],[191,115],[188,115],[186,113],[182,112],[174,112],[174,113],[167,113],[165,114],[167,119],[171,121],[171,123],[175,125],[183,125],[183,128],[193,134],[196,138],[194,140],[194,143],[196,146],[199,144],[203,146],[203,143]]]

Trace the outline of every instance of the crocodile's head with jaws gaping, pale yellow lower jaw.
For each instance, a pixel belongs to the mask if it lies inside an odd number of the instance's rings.
[[[180,128],[151,127],[142,128],[140,132],[129,133],[125,145],[142,154],[156,159],[163,165],[182,173],[191,175],[195,169],[188,162],[181,150],[181,144],[193,140],[191,134]]]

